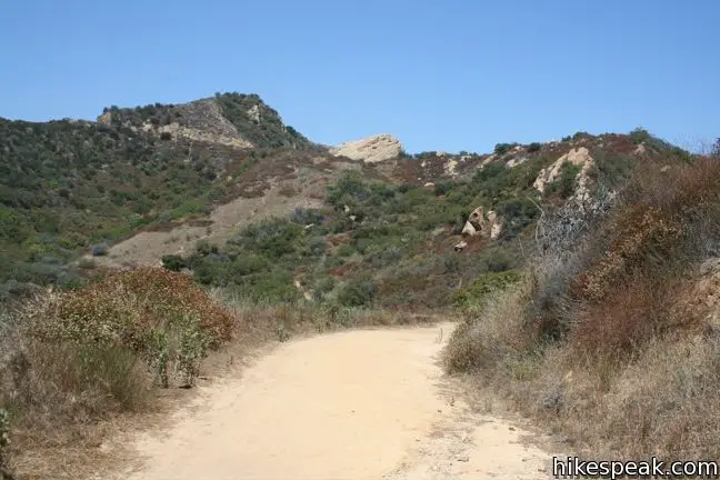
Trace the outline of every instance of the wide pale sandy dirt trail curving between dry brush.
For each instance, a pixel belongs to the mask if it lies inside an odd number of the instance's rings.
[[[452,326],[281,346],[142,434],[129,480],[541,479],[547,454],[479,418],[436,362]],[[442,331],[442,333],[441,333]]]

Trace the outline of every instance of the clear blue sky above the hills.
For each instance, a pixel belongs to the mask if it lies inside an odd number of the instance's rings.
[[[720,136],[719,0],[4,0],[0,117],[259,93],[322,143]]]

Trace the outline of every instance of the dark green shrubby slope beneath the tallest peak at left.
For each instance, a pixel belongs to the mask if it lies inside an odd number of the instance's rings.
[[[240,114],[248,104],[257,116]],[[180,123],[154,130],[161,112]],[[222,128],[234,137],[222,137]],[[254,96],[110,108],[97,123],[0,119],[0,297],[21,291],[19,283],[77,284],[82,272],[63,266],[82,251],[103,253],[140,230],[257,194],[252,186],[227,184],[269,154],[256,143],[277,154],[311,148]]]

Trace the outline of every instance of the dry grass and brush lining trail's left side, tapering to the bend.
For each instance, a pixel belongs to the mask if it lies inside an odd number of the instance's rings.
[[[158,388],[163,383],[231,373],[249,352],[292,337],[434,320],[304,301],[253,303],[152,268],[48,293],[0,320],[0,412],[9,412],[11,439],[0,446],[0,467],[23,479],[92,474],[127,460],[101,446],[161,422],[191,394]],[[176,370],[180,382],[172,381]]]

